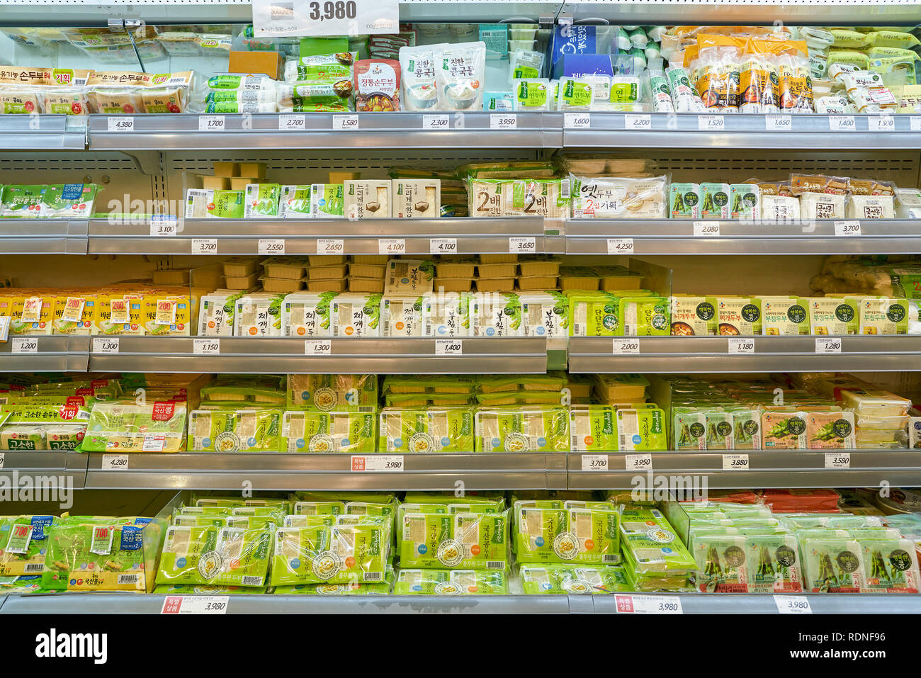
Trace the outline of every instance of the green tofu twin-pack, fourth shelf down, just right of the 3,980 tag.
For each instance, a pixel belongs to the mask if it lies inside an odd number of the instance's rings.
[[[468,407],[427,407],[380,411],[381,452],[472,452],[473,411]]]

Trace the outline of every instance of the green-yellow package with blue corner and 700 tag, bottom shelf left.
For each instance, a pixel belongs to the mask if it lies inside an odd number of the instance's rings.
[[[42,588],[144,592],[147,584],[142,531],[148,520],[133,522],[129,525],[118,519],[70,519],[46,528],[49,533]]]

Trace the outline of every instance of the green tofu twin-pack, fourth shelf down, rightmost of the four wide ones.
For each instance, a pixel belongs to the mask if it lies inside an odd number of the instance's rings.
[[[475,423],[477,452],[569,450],[569,413],[562,407],[480,409]]]

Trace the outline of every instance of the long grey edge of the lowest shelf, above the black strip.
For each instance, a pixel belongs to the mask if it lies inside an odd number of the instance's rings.
[[[780,605],[785,598],[775,598],[770,593],[616,593],[597,596],[250,594],[229,596],[227,614],[631,614],[624,610],[629,609],[634,595],[662,602],[664,607],[673,611],[670,614],[677,613],[676,602],[681,603],[681,614],[781,614]],[[809,602],[811,614],[917,614],[921,611],[919,595],[834,593],[798,594],[797,598]],[[167,596],[157,593],[10,595],[6,596],[6,600],[0,597],[0,614],[161,614],[166,599]]]

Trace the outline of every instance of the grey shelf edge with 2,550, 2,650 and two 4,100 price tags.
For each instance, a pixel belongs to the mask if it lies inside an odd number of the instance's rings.
[[[0,223],[0,227],[2,227]],[[379,239],[403,240],[406,254],[507,253],[509,238],[534,239],[537,252],[562,251],[562,238],[543,235],[541,217],[444,219],[180,219],[176,234],[152,236],[149,222],[120,223],[106,219],[89,222],[90,254],[197,253],[195,239],[215,239],[209,254],[264,254],[278,240],[285,254],[378,254]],[[433,243],[453,239],[455,243]],[[272,243],[261,240],[272,240]],[[318,240],[332,240],[323,243]],[[326,249],[324,249],[326,248]],[[445,249],[447,248],[447,250]],[[548,250],[548,248],[551,248]],[[275,253],[280,251],[274,250]]]

